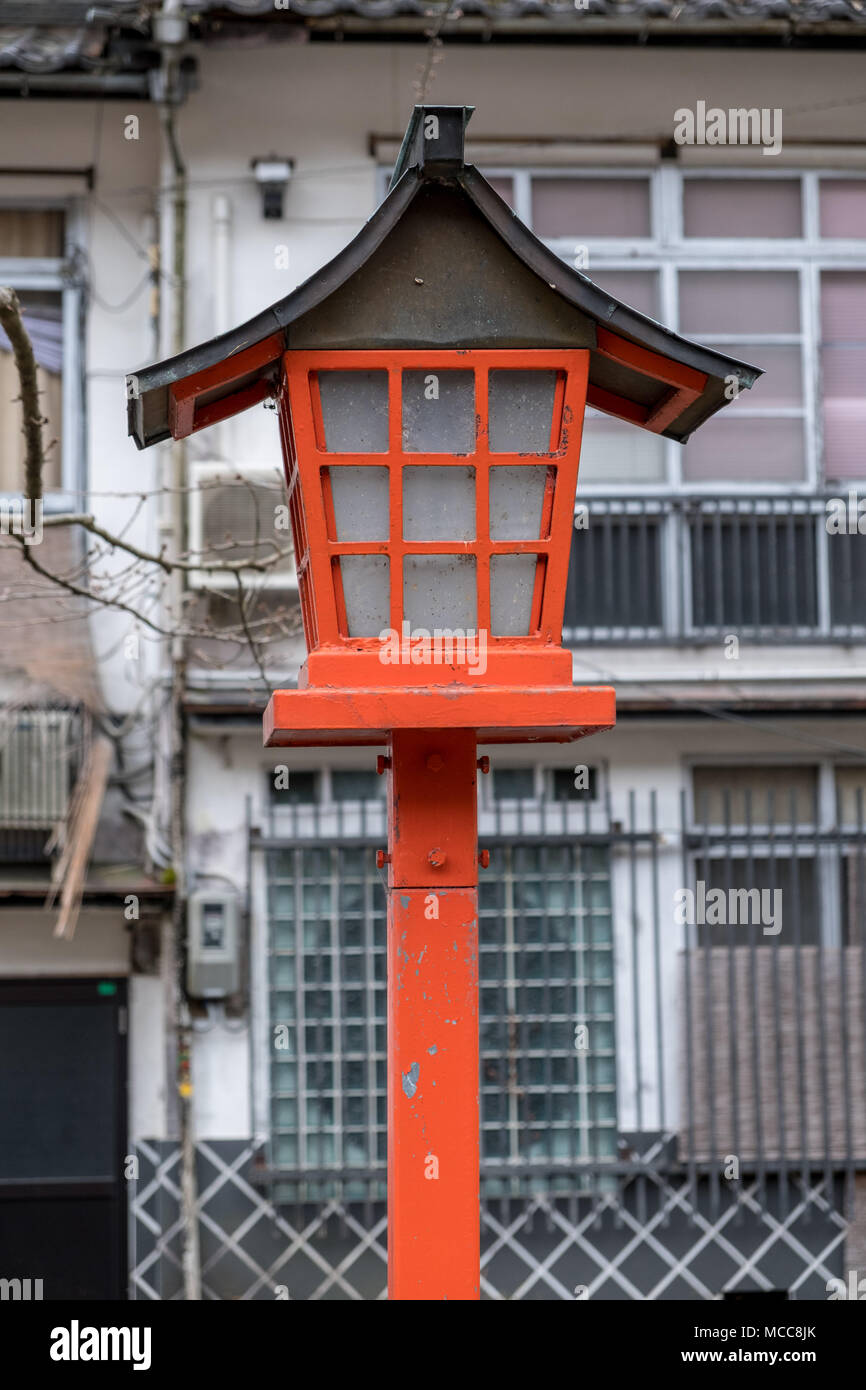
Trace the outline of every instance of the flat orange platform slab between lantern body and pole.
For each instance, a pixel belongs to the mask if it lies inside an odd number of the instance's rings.
[[[265,748],[386,744],[395,728],[474,728],[480,744],[571,744],[616,724],[610,685],[274,691]]]

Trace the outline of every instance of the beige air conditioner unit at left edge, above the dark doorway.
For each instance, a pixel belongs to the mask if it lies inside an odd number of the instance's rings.
[[[56,826],[72,787],[75,716],[68,710],[0,710],[0,826]]]

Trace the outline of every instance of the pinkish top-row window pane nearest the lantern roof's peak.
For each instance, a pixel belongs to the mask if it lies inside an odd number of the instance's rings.
[[[537,236],[649,236],[645,178],[534,178]]]

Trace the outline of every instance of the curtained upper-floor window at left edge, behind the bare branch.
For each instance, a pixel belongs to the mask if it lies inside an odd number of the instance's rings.
[[[65,214],[61,208],[0,207],[0,282],[21,300],[24,325],[36,357],[39,404],[46,418],[43,486],[72,485],[78,456],[81,399],[64,389],[64,374],[78,381],[76,349],[64,325],[76,321],[78,288],[64,277]],[[24,491],[24,452],[18,373],[8,338],[0,329],[0,493]],[[74,402],[75,411],[70,410]]]

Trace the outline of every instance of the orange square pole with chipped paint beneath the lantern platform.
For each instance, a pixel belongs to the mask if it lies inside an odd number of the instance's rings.
[[[481,1297],[474,730],[391,737],[388,1295]]]

